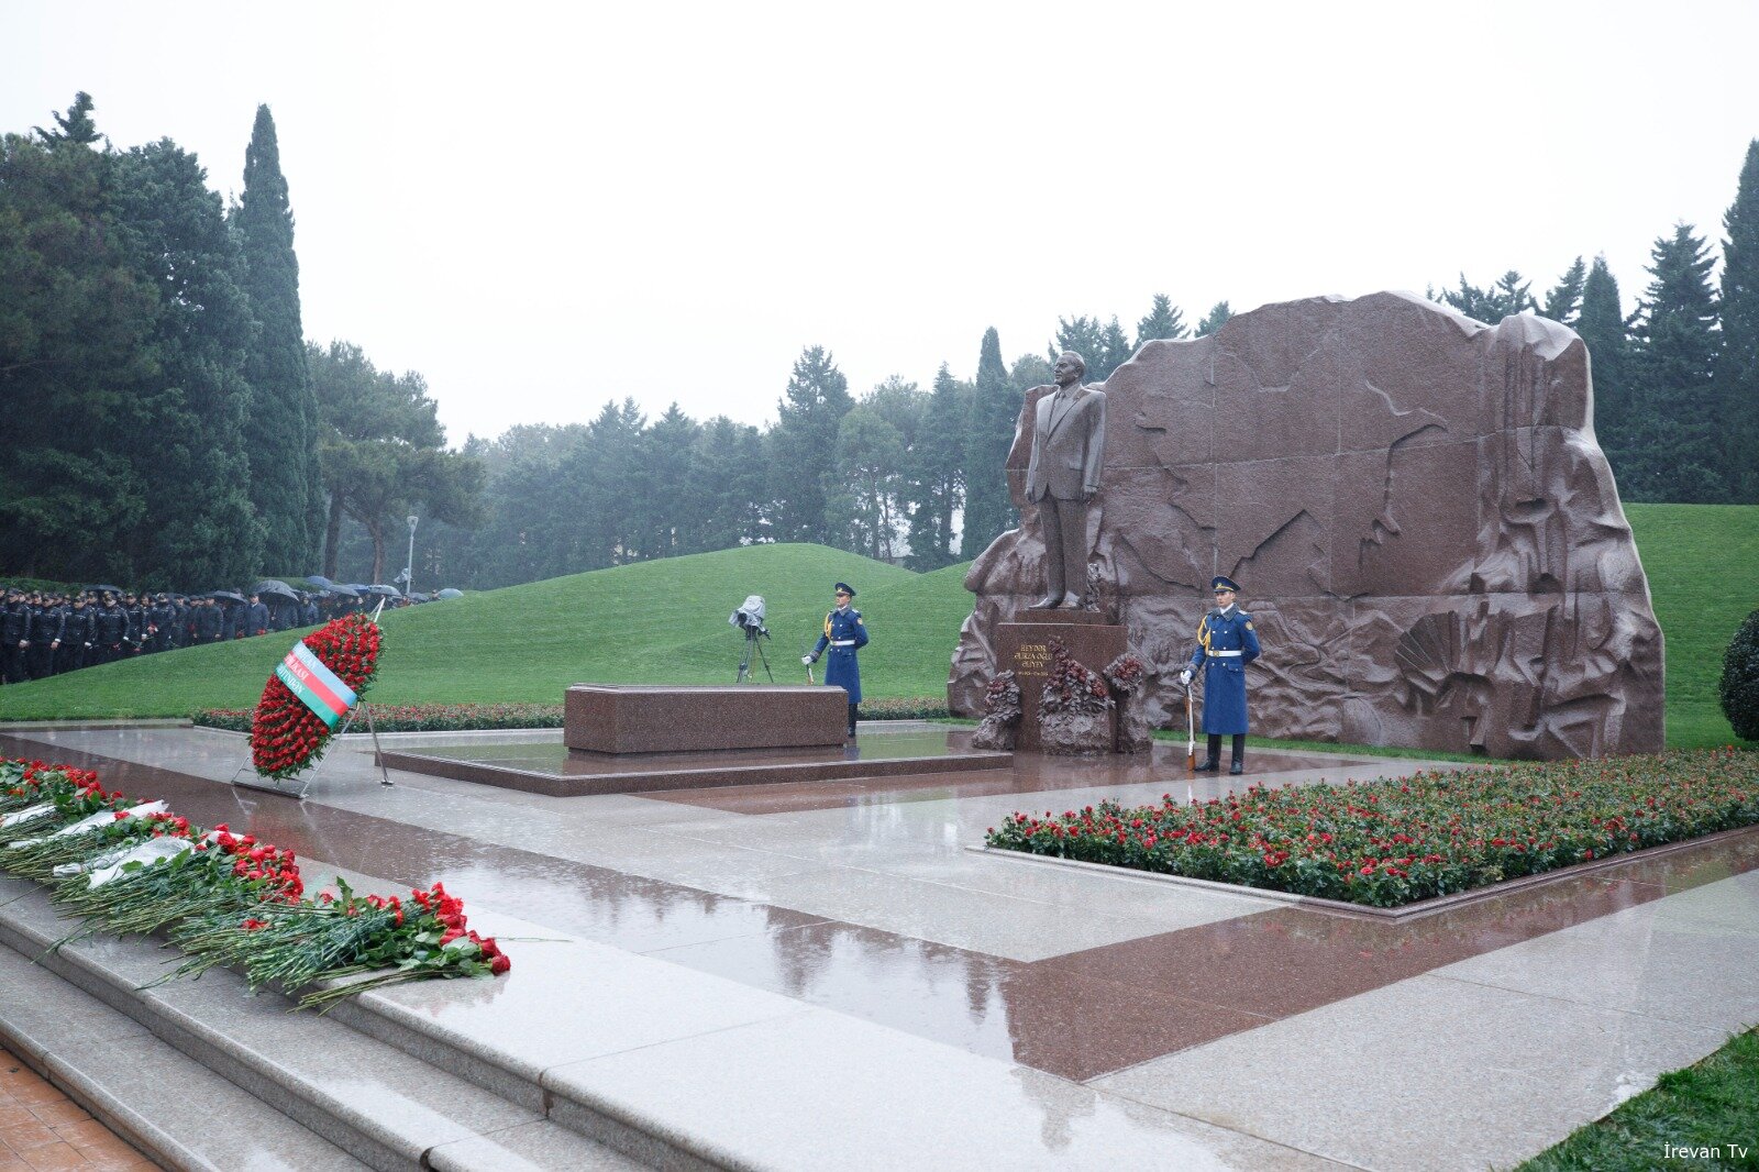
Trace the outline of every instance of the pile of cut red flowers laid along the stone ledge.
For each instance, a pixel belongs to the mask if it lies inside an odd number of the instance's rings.
[[[306,899],[294,852],[190,825],[72,765],[0,760],[0,869],[47,883],[55,905],[83,920],[56,947],[97,931],[164,931],[190,956],[165,980],[232,964],[253,993],[278,985],[299,1008],[512,966],[466,927],[464,905],[440,883],[408,899],[357,896],[347,883]],[[357,980],[329,984],[345,977]]]

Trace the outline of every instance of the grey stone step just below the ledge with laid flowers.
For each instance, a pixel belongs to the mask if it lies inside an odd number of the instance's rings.
[[[0,943],[16,954],[9,954],[12,959],[37,961],[37,977],[102,1001],[120,1021],[132,1022],[128,1036],[169,1044],[183,1063],[193,1059],[211,1072],[209,1079],[248,1093],[260,1110],[273,1105],[278,1117],[304,1124],[338,1154],[385,1170],[644,1167],[545,1119],[538,1105],[508,1102],[341,1019],[290,1014],[288,1003],[273,994],[248,996],[234,973],[216,970],[201,980],[142,989],[176,957],[153,941],[93,936],[46,952],[74,927],[49,906],[47,894],[7,876],[0,878]],[[5,998],[0,1021],[21,1014],[30,1014],[28,1000],[14,1005]],[[109,1112],[95,1114],[111,1119]],[[181,1165],[181,1156],[171,1163]]]

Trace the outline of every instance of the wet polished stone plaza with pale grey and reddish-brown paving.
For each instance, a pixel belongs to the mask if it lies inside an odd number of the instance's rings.
[[[869,725],[862,750],[888,736],[957,748],[969,730]],[[114,1035],[32,1015],[25,991],[49,996],[58,978],[26,945],[53,940],[53,913],[4,880],[0,1044],[109,1103],[97,1114],[134,1142],[211,1167],[1507,1167],[1759,1022],[1759,832],[1397,920],[971,850],[1015,809],[1423,762],[1258,751],[1245,778],[1194,781],[1180,744],[549,797],[408,771],[382,787],[371,743],[350,736],[297,802],[225,785],[248,757],[237,734],[12,727],[0,755],[95,767],[193,822],[290,846],[311,890],[325,869],[385,892],[443,882],[512,956],[493,982],[408,985],[313,1019],[239,1008],[225,973],[141,994],[157,998],[142,1014],[116,991],[164,954],[67,950],[56,964],[95,991],[93,1014],[121,1014],[141,1047],[169,1044],[151,1061],[250,1091],[227,1110],[266,1139],[188,1140],[164,1077],[104,1089],[91,1073]],[[100,987],[100,970],[121,977]],[[273,1070],[239,1073],[246,1051],[274,1051]],[[417,1061],[429,1066],[405,1066]],[[405,1089],[426,1068],[461,1107]],[[99,1089],[81,1096],[81,1079]],[[348,1096],[371,1121],[299,1105]]]

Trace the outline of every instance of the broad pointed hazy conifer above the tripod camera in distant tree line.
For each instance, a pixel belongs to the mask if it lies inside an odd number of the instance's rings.
[[[827,517],[825,503],[837,480],[837,428],[853,407],[850,380],[830,352],[806,347],[769,433],[776,540],[830,546],[848,530]]]

